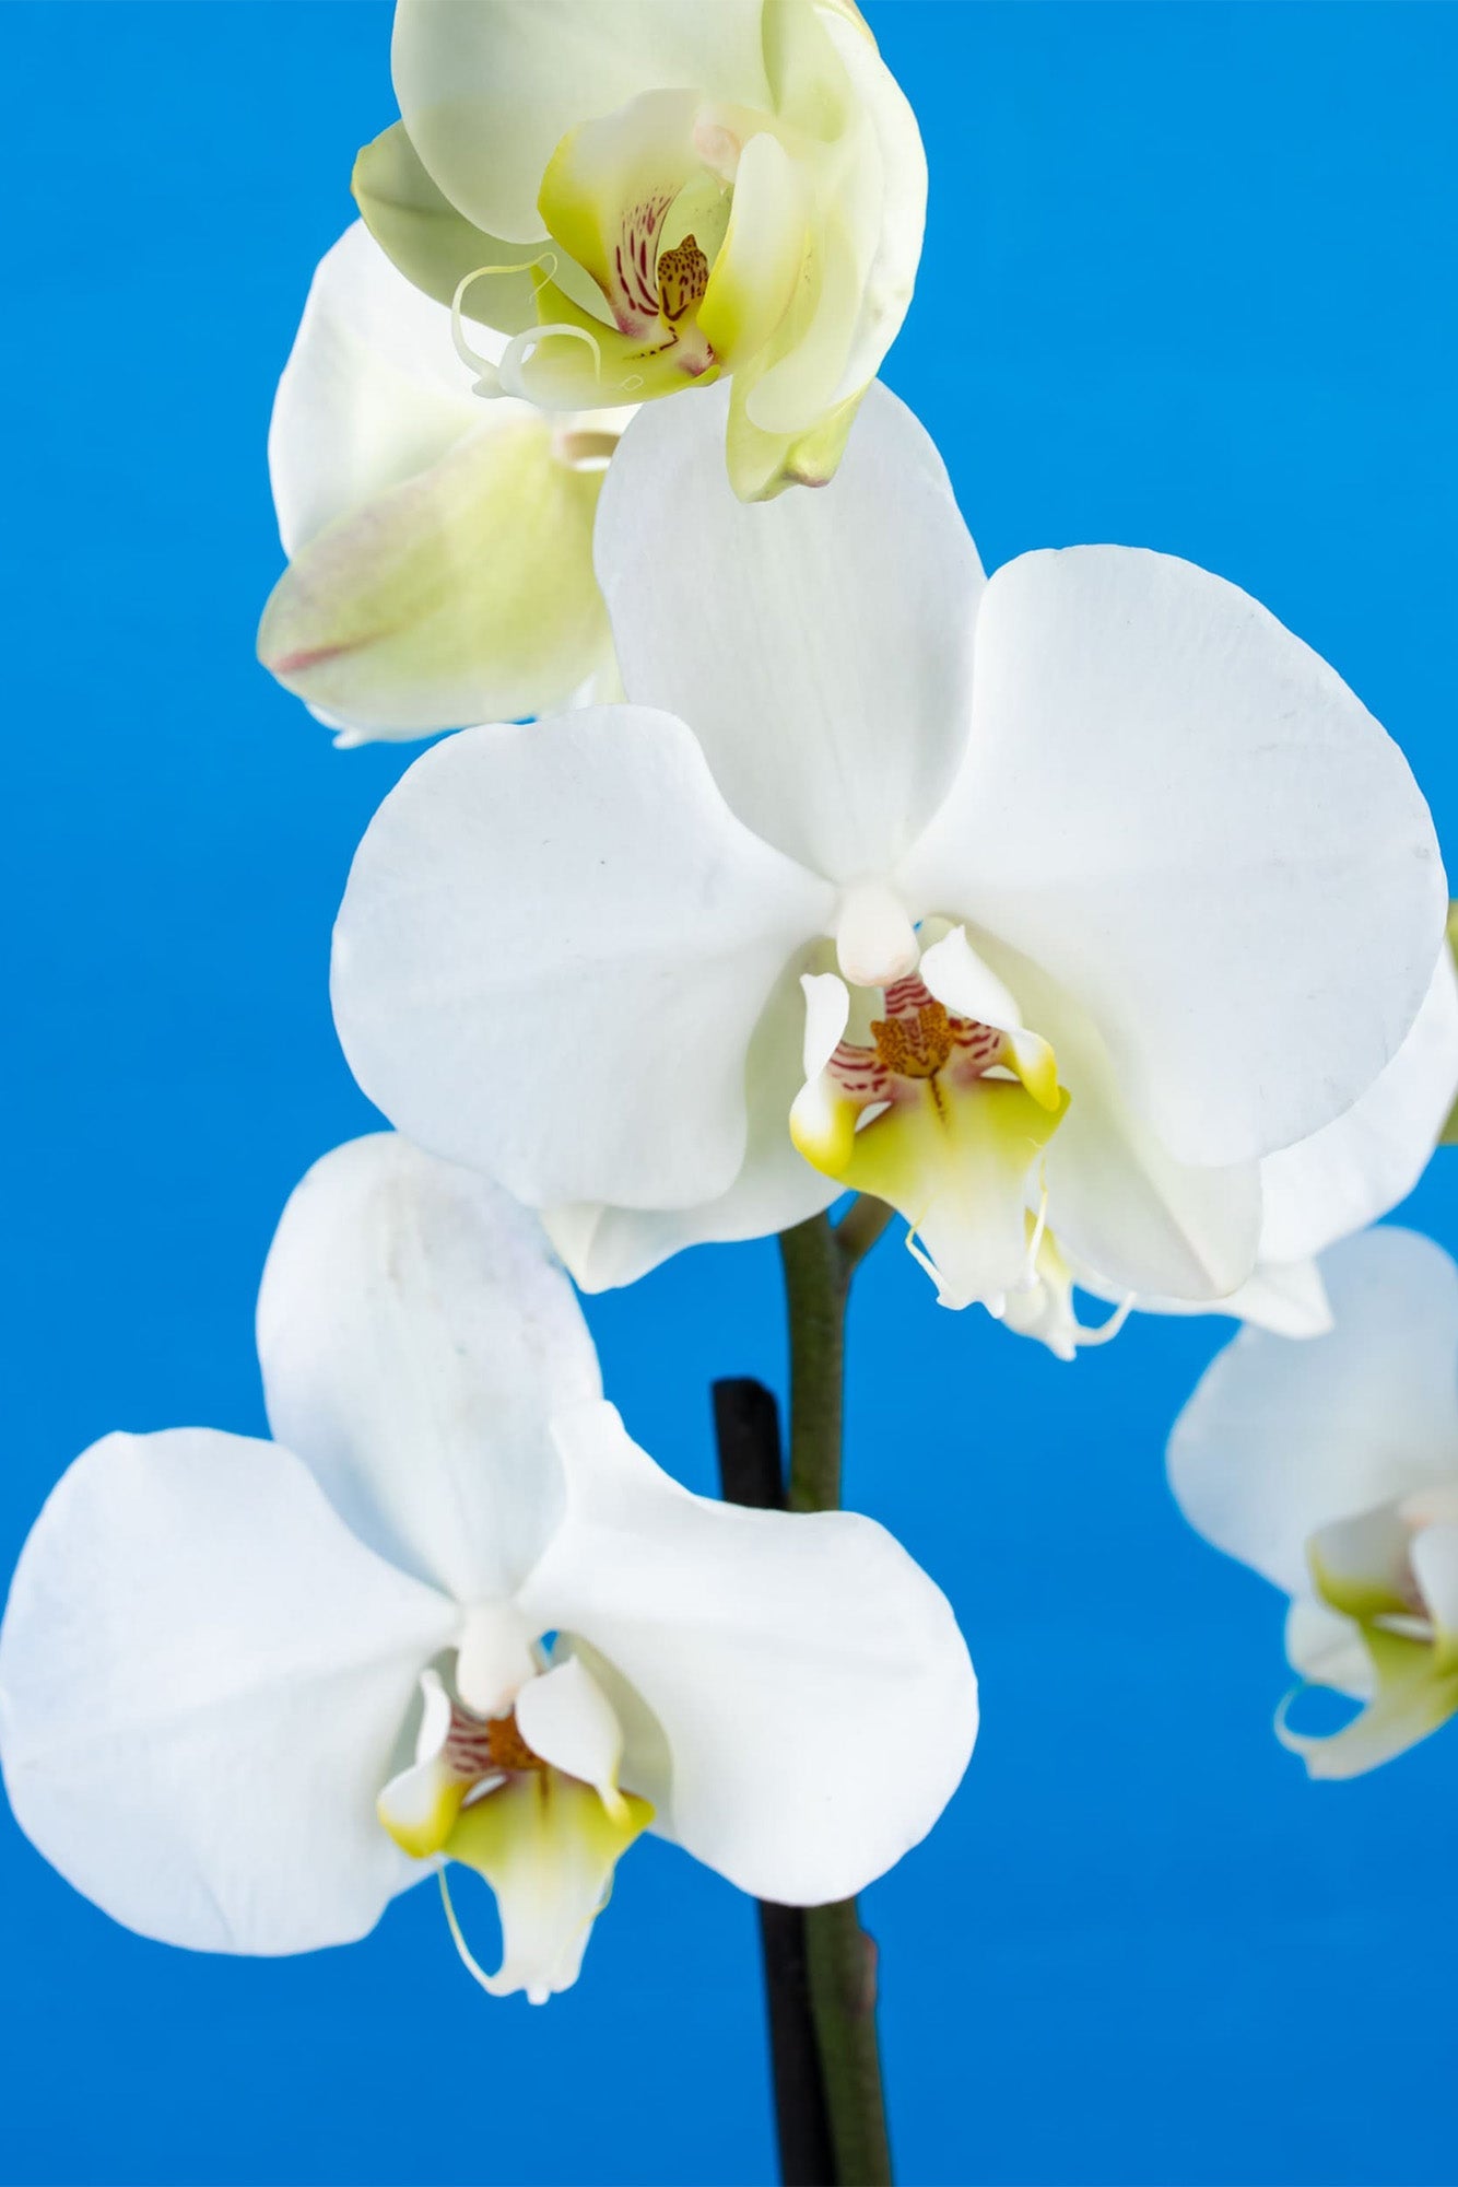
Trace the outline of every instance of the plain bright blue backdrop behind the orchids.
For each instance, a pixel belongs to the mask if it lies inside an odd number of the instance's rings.
[[[887,378],[986,562],[1128,540],[1235,577],[1403,741],[1451,849],[1458,15],[872,17],[933,177]],[[330,919],[411,748],[334,752],[251,654],[269,400],[393,114],[389,11],[13,0],[0,28],[9,1568],[103,1430],[262,1430],[273,1220],[369,1126]],[[1410,1218],[1458,1244],[1458,1155]],[[630,1426],[706,1487],[708,1378],[783,1373],[774,1249],[592,1323]],[[1277,1747],[1281,1605],[1161,1472],[1222,1336],[1145,1321],[1062,1367],[938,1312],[894,1244],[863,1277],[850,1496],[953,1594],[986,1710],[868,1896],[907,2183],[1458,2176],[1458,1732],[1351,1787]],[[533,2012],[468,1984],[433,1892],[350,1951],[192,1957],[0,1813],[0,2075],[11,2183],[772,2170],[752,1909],[658,1844]]]

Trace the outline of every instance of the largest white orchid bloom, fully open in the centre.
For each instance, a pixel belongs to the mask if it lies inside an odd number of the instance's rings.
[[[949,1303],[1003,1310],[1045,1229],[1119,1295],[1231,1295],[1261,1161],[1432,982],[1406,761],[1187,562],[984,580],[883,387],[837,479],[761,510],[715,400],[645,409],[603,488],[632,704],[455,737],[376,814],[334,947],[356,1078],[553,1209],[588,1286],[853,1188]]]

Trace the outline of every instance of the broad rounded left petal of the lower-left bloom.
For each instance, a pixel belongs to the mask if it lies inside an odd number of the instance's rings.
[[[415,1879],[374,1802],[455,1625],[286,1450],[210,1428],[109,1435],[61,1476],[11,1583],[15,1820],[164,1944],[345,1944]]]

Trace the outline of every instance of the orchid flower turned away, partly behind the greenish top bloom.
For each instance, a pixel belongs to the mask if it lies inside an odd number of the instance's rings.
[[[339,744],[616,698],[592,518],[627,411],[483,402],[450,313],[363,223],[326,254],[269,472],[284,553],[258,656]]]

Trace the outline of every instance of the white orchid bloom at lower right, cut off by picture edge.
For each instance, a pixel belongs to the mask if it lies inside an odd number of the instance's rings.
[[[1281,1741],[1314,1778],[1392,1761],[1458,1710],[1458,1268],[1373,1229],[1322,1258],[1336,1328],[1292,1345],[1246,1328],[1169,1439],[1198,1533],[1290,1594],[1298,1677],[1362,1701]]]

